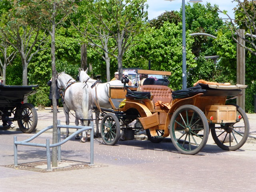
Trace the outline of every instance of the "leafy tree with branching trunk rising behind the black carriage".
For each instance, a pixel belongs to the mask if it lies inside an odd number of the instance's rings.
[[[32,57],[42,50],[42,44],[46,39],[44,33],[40,37],[41,26],[39,22],[33,22],[33,18],[24,9],[26,1],[9,0],[11,9],[3,14],[4,25],[1,28],[5,43],[16,49],[22,60],[22,85],[28,85],[28,64]],[[39,43],[38,43],[39,42]],[[38,44],[37,44],[38,43]],[[33,48],[36,46],[36,50]]]

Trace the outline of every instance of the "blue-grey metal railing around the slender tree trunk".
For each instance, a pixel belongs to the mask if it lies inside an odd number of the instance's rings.
[[[14,166],[18,166],[18,145],[24,145],[24,146],[34,146],[34,147],[44,147],[46,148],[46,158],[47,158],[47,169],[51,169],[51,157],[50,157],[50,148],[52,147],[58,147],[58,161],[61,161],[61,145],[66,143],[68,140],[79,134],[80,132],[90,130],[90,164],[94,164],[94,128],[93,128],[93,121],[90,122],[90,126],[75,126],[75,125],[60,125],[60,120],[58,120],[57,125],[57,137],[58,142],[55,144],[50,144],[50,139],[46,139],[46,144],[40,144],[40,143],[30,143],[34,138],[38,137],[40,134],[44,133],[45,131],[52,129],[53,126],[48,126],[32,136],[31,138],[24,140],[24,141],[17,141],[17,136],[14,136]],[[78,129],[76,132],[65,138],[61,141],[60,139],[60,128],[69,128],[69,129]]]

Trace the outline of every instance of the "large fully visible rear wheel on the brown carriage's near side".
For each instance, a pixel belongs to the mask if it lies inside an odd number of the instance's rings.
[[[175,148],[183,154],[194,155],[206,145],[209,126],[198,107],[183,105],[170,120],[170,135]]]

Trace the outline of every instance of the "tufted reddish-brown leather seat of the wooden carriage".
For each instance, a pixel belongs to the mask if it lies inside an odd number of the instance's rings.
[[[138,91],[151,92],[154,96],[153,100],[156,103],[157,101],[162,101],[164,103],[172,102],[172,90],[171,88],[163,85],[142,85],[139,86]]]

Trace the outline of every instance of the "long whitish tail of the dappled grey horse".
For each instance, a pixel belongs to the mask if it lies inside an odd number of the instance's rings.
[[[85,86],[83,88],[83,100],[82,100],[82,113],[84,116],[84,126],[90,125],[90,118],[92,116],[92,108],[93,108],[93,102],[92,102],[92,94],[90,90]]]

